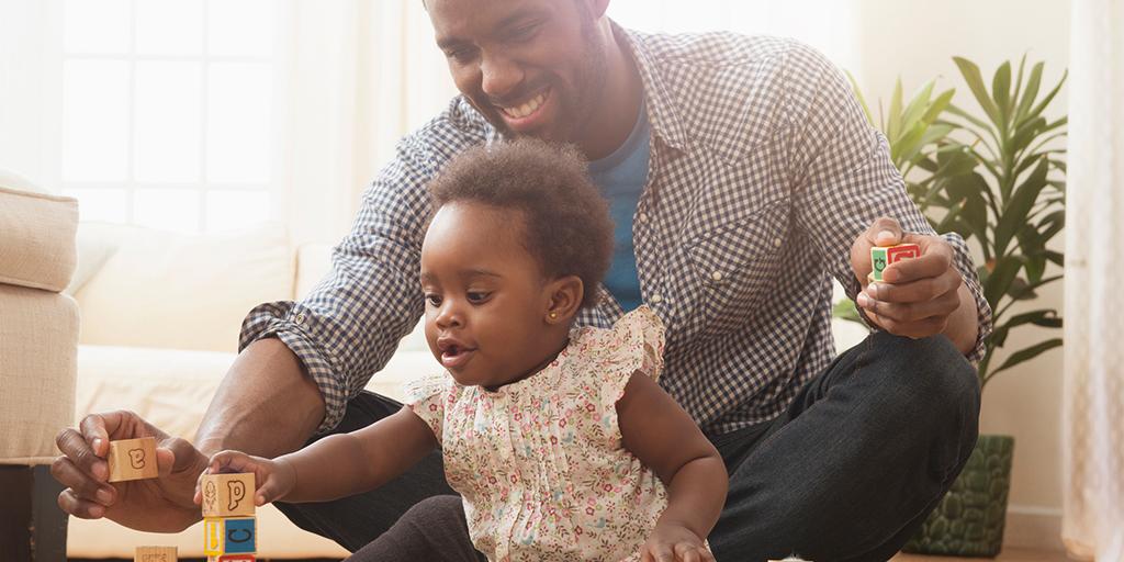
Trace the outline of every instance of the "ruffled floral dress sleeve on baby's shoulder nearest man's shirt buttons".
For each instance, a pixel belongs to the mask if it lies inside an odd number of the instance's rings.
[[[599,433],[610,441],[620,439],[617,401],[633,373],[659,380],[663,371],[663,329],[660,317],[642,306],[620,317],[611,329],[596,330],[583,342],[583,354],[590,360],[586,371],[598,395]]]

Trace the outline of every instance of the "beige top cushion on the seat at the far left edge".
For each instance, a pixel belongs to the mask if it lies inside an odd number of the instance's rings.
[[[8,178],[7,180],[4,178]],[[62,291],[74,272],[78,200],[0,176],[0,283]]]

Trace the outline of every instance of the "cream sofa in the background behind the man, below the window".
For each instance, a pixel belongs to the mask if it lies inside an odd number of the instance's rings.
[[[189,237],[83,224],[79,252],[70,289],[82,309],[76,418],[126,408],[188,439],[235,359],[246,311],[303,294],[330,266],[327,245],[292,248],[275,226]],[[841,325],[836,334],[847,345],[862,336],[862,328]],[[415,330],[368,388],[399,397],[410,377],[438,368]],[[346,554],[270,506],[259,516],[262,558]],[[74,558],[128,558],[135,545],[166,544],[178,545],[181,556],[199,556],[201,536],[200,525],[178,535],[152,535],[71,518],[67,552]]]

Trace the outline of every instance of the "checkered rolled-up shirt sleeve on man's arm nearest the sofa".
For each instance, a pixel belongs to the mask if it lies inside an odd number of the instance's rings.
[[[239,351],[281,339],[300,357],[324,397],[324,433],[347,400],[380,371],[425,311],[419,262],[430,215],[425,184],[468,143],[446,112],[399,144],[364,192],[351,233],[333,251],[332,271],[303,299],[266,302],[243,321]]]

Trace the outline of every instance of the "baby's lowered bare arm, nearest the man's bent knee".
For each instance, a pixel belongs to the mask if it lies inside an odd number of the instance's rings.
[[[668,487],[668,508],[653,537],[658,540],[649,541],[647,546],[656,551],[651,554],[686,558],[679,551],[688,545],[674,538],[686,529],[703,546],[726,502],[726,465],[695,420],[643,373],[633,373],[628,380],[624,397],[617,401],[617,418],[625,448]],[[710,560],[709,554],[704,560]]]

